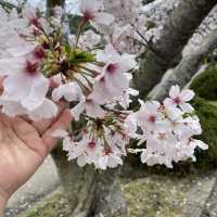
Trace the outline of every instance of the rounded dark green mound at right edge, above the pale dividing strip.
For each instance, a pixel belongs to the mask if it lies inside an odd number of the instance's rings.
[[[217,65],[209,66],[191,84],[196,94],[206,100],[217,100]]]

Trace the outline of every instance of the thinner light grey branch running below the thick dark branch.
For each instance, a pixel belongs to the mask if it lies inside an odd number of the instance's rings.
[[[148,98],[163,100],[173,85],[184,87],[197,72],[202,60],[215,48],[217,48],[217,29],[208,35],[199,50],[183,56],[175,69],[168,71],[162,81],[150,92]]]

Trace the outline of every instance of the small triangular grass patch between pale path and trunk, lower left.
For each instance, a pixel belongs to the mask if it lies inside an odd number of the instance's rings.
[[[56,191],[21,217],[66,217],[69,214],[67,200],[62,191]]]

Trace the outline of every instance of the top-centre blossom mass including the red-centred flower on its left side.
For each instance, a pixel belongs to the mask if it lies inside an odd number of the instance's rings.
[[[142,0],[93,0],[80,1],[80,14],[89,20],[93,30],[84,33],[82,46],[97,46],[100,40],[112,43],[119,52],[139,55],[144,50],[146,39],[144,26],[146,17],[142,12]],[[100,13],[99,13],[100,12]],[[76,36],[71,36],[75,40]],[[88,37],[88,42],[85,40]],[[84,38],[84,39],[82,39]]]

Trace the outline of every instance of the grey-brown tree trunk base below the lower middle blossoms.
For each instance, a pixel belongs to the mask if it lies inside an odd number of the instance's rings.
[[[52,152],[58,173],[69,200],[72,217],[126,217],[126,204],[115,182],[118,169],[98,171],[68,162],[61,148]]]

